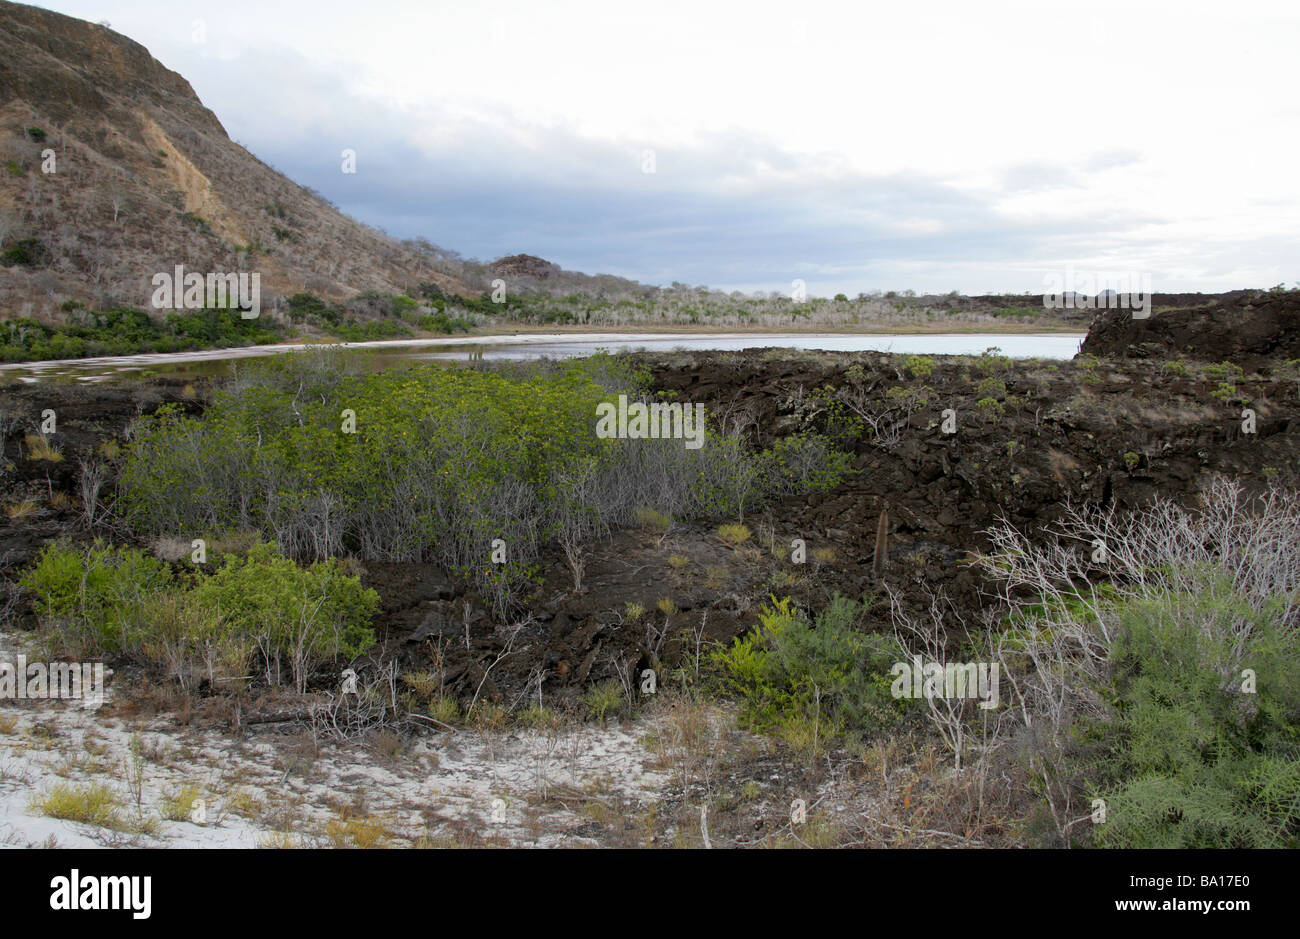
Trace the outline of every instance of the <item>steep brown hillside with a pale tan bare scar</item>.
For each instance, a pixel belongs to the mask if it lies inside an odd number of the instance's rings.
[[[139,43],[0,0],[0,243],[27,238],[39,260],[0,267],[0,317],[57,319],[66,299],[147,307],[150,278],[177,264],[260,272],[270,306],[300,290],[476,291],[234,143]]]

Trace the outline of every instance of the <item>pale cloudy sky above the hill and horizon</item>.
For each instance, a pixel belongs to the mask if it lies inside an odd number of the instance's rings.
[[[1294,0],[38,5],[467,258],[812,295],[1300,281]]]

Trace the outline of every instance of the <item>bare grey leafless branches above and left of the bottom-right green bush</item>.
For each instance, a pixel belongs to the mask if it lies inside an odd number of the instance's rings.
[[[1071,727],[1101,718],[1106,705],[1108,650],[1118,631],[1114,598],[1158,601],[1200,596],[1227,583],[1254,610],[1268,607],[1284,635],[1300,627],[1300,496],[1279,488],[1249,497],[1217,479],[1200,505],[1157,499],[1139,511],[1069,506],[1037,536],[1002,522],[978,559],[998,584],[1002,606],[1032,606],[1027,628],[991,631],[991,654],[1010,688],[1015,734],[1026,745],[1062,836],[1088,815],[1071,767]],[[1226,629],[1238,650],[1251,623],[1208,623]]]

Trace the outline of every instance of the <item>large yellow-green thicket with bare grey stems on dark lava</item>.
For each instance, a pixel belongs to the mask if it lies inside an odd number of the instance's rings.
[[[504,613],[554,538],[572,559],[637,509],[740,516],[774,492],[833,486],[848,472],[820,438],[764,453],[719,427],[697,450],[598,438],[595,406],[637,391],[637,376],[607,355],[380,373],[351,372],[330,352],[277,356],[202,417],[161,408],[133,428],[122,507],[147,533],[252,529],[291,557],[436,561]],[[494,563],[497,538],[504,563]]]

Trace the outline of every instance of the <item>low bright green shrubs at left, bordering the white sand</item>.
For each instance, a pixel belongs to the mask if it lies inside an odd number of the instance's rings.
[[[23,575],[52,652],[114,654],[164,668],[182,687],[247,678],[289,679],[304,691],[339,655],[374,644],[380,607],[338,561],[300,567],[272,545],[229,555],[213,574],[181,574],[131,548],[47,545]]]

